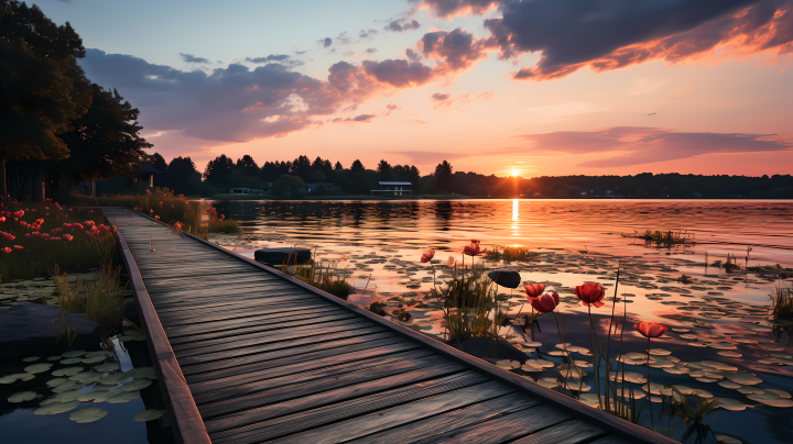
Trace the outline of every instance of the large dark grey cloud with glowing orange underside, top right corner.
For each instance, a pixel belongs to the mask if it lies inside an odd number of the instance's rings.
[[[685,62],[735,43],[743,53],[793,51],[791,0],[504,1],[485,21],[500,58],[542,53],[515,79],[553,79],[662,59]],[[787,13],[780,13],[787,10]]]

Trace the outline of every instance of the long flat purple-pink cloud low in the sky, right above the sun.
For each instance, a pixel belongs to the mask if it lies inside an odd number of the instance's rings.
[[[557,131],[526,134],[521,138],[532,152],[560,152],[572,155],[619,152],[606,159],[588,160],[586,168],[619,167],[676,160],[713,153],[758,153],[793,147],[793,141],[776,134],[681,133],[658,127],[616,126],[597,131]],[[627,153],[627,154],[626,154]]]

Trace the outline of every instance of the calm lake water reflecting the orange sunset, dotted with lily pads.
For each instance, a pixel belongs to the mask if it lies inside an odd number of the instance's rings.
[[[647,353],[647,341],[634,333],[637,321],[658,321],[671,330],[653,340],[650,371],[651,390],[670,395],[675,386],[697,401],[720,399],[719,408],[706,418],[711,431],[723,439],[743,443],[787,443],[793,432],[793,347],[790,326],[768,321],[769,295],[778,286],[793,285],[778,276],[746,274],[749,266],[793,267],[793,202],[787,201],[596,201],[596,200],[469,200],[469,201],[220,201],[218,213],[240,220],[243,234],[214,240],[252,256],[262,246],[305,246],[316,248],[326,265],[345,270],[360,290],[350,301],[367,306],[371,301],[400,303],[424,301],[427,308],[412,311],[413,321],[403,323],[427,335],[445,338],[441,307],[427,299],[433,285],[454,273],[446,267],[450,256],[457,267],[464,259],[460,248],[470,240],[482,247],[525,246],[537,253],[530,263],[489,263],[487,268],[520,271],[524,281],[546,284],[562,296],[558,313],[572,343],[572,358],[586,375],[589,390],[583,400],[593,403],[595,379],[591,363],[587,309],[575,298],[575,286],[585,281],[604,285],[609,296],[606,307],[593,311],[597,337],[615,324],[626,326],[621,344],[628,358],[626,371],[636,373],[633,389],[647,382],[645,366],[638,356]],[[659,249],[621,234],[645,230],[682,231],[694,236],[696,245]],[[436,249],[433,267],[420,264],[423,251]],[[740,271],[705,268],[707,257],[725,262],[735,254]],[[465,258],[470,265],[470,258]],[[620,269],[615,307],[616,271]],[[687,275],[692,281],[681,282]],[[436,282],[436,284],[434,284]],[[366,291],[363,291],[366,289]],[[518,290],[500,288],[503,304],[511,313],[530,311]],[[389,309],[391,311],[391,309]],[[623,315],[624,313],[624,315]],[[623,321],[624,319],[624,321]],[[394,322],[398,322],[394,320]],[[524,345],[528,359],[543,364],[514,370],[539,384],[554,387],[563,363],[556,345],[561,342],[553,318],[543,315],[540,329],[521,334],[507,326],[512,343]],[[785,330],[786,329],[786,330]],[[618,330],[619,331],[619,330]],[[617,357],[612,342],[611,358]],[[655,349],[658,348],[658,349]],[[534,351],[535,349],[535,351]],[[556,353],[554,353],[556,352]],[[636,355],[631,355],[631,353]],[[508,367],[509,362],[495,363]],[[591,366],[591,364],[589,364]],[[655,386],[655,385],[659,386]],[[577,382],[576,382],[577,385]],[[647,387],[645,387],[647,389]],[[660,391],[655,391],[660,390]],[[686,424],[674,420],[667,402],[653,402],[653,418],[647,398],[639,422],[681,440]],[[692,401],[693,402],[693,401]],[[595,396],[594,403],[597,403]],[[716,413],[718,412],[718,417]],[[709,433],[709,432],[708,432]],[[694,442],[696,434],[688,439]],[[715,442],[714,435],[707,435]]]

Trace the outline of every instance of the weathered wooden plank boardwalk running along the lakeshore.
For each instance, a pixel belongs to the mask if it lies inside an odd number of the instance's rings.
[[[104,211],[180,441],[673,443],[131,210]]]

